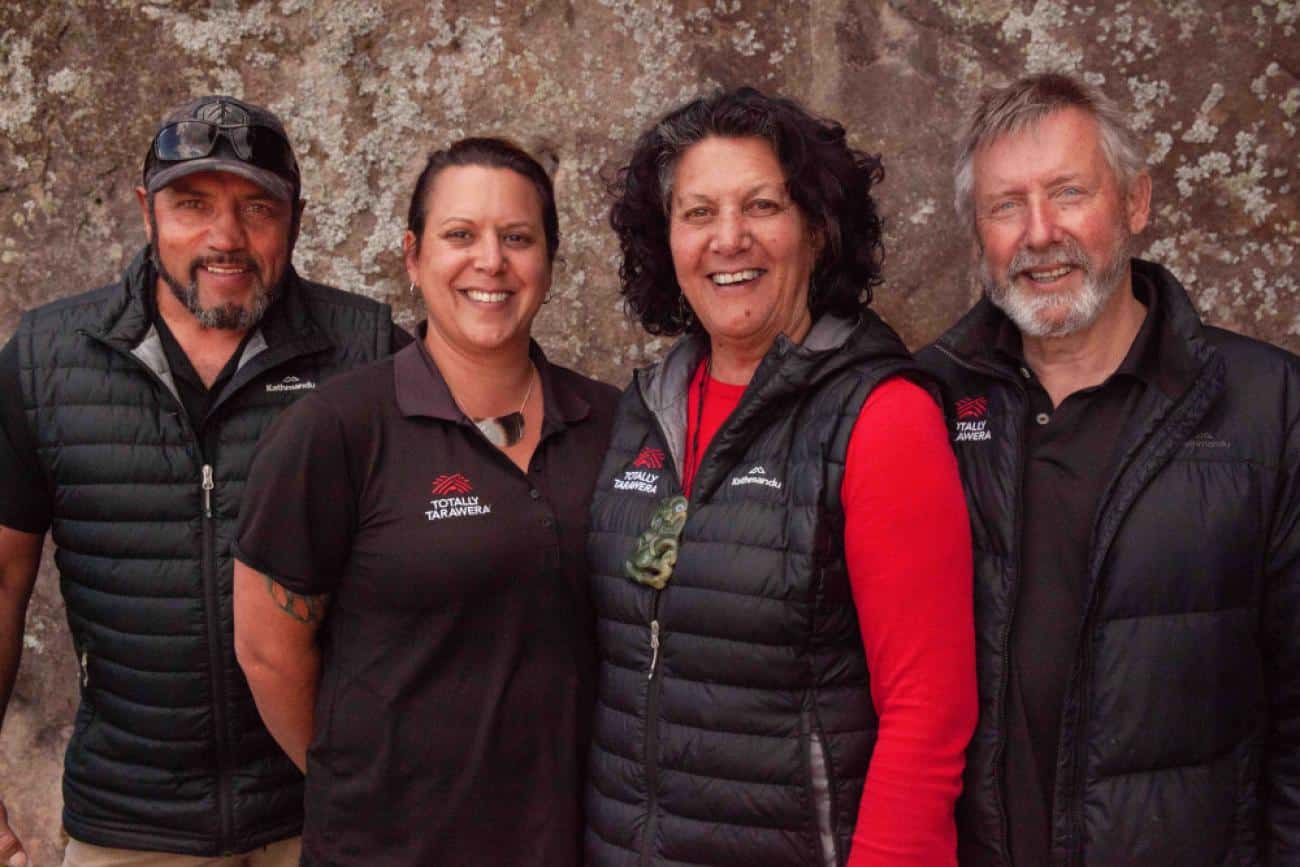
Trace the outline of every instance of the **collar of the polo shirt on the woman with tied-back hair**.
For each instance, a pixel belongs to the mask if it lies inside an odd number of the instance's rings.
[[[416,328],[416,339],[393,356],[393,378],[396,389],[398,409],[407,417],[442,419],[456,424],[471,424],[460,412],[447,381],[442,378],[437,363],[424,344],[428,321]],[[542,386],[542,435],[563,430],[586,419],[592,406],[568,382],[568,377],[546,360],[546,354],[536,341],[528,342],[528,356],[537,368]]]

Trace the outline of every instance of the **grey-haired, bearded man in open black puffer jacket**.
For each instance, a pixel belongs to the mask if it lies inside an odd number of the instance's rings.
[[[945,383],[975,543],[961,863],[1300,863],[1300,365],[1132,259],[1101,94],[985,96],[957,160],[984,299]]]

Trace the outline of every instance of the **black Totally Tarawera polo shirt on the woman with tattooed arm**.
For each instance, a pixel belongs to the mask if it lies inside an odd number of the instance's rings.
[[[546,363],[521,472],[422,341],[266,432],[237,556],[330,594],[304,864],[581,863],[588,504],[618,393]]]

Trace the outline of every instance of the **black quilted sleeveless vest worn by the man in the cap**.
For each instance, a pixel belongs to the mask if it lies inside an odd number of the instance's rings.
[[[140,255],[122,282],[23,316],[22,399],[53,491],[82,668],[64,768],[77,840],[190,855],[302,828],[302,776],[268,734],[231,642],[231,559],[254,445],[328,377],[387,355],[386,304],[290,273],[212,407],[176,396]]]

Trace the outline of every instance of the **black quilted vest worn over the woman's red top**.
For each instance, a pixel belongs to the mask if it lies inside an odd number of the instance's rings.
[[[838,506],[858,411],[911,374],[871,313],[784,337],[710,443],[662,591],[623,563],[679,494],[701,338],[624,394],[592,506],[599,698],[586,851],[602,864],[844,864],[876,740]]]

